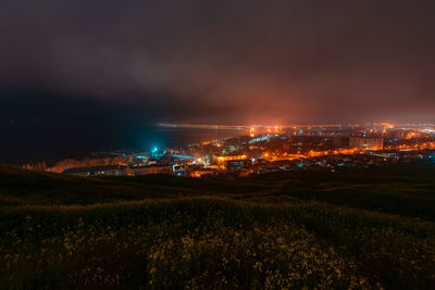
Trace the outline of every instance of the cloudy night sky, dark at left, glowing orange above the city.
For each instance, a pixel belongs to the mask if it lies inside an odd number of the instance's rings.
[[[435,122],[435,1],[0,1],[0,163],[159,122]]]

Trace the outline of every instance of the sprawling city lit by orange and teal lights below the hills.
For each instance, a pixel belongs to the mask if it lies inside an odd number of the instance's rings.
[[[336,172],[390,163],[433,162],[434,152],[433,127],[253,126],[243,136],[208,140],[184,149],[102,152],[82,161],[62,161],[47,171],[80,176],[248,176],[276,171]]]

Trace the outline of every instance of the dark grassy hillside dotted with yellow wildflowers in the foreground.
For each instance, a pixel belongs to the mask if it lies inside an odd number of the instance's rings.
[[[0,288],[435,289],[435,167],[80,178],[0,166]]]

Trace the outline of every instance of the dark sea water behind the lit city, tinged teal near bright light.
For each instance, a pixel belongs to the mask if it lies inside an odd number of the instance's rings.
[[[64,159],[83,159],[94,152],[129,149],[183,148],[190,143],[246,134],[243,130],[186,129],[146,126],[141,128],[95,127],[64,130],[14,129],[0,143],[0,164],[22,165],[45,161],[53,165]]]

